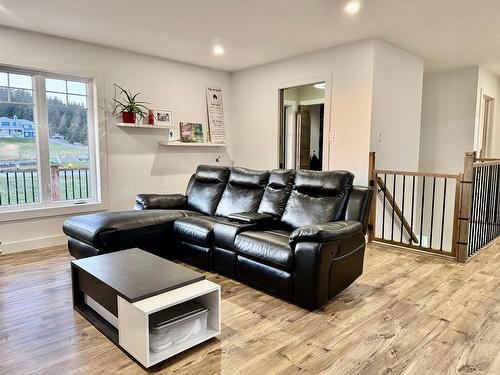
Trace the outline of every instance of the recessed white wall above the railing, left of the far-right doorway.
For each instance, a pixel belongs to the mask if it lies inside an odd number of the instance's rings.
[[[424,75],[419,170],[458,173],[474,144],[477,67]]]

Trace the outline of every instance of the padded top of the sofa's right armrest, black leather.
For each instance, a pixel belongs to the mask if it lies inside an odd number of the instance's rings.
[[[336,221],[326,224],[307,225],[290,234],[290,244],[297,242],[336,242],[355,234],[363,235],[363,226],[354,220]]]

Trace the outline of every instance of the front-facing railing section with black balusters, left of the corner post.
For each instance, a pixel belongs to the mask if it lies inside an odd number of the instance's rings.
[[[456,256],[454,212],[458,175],[375,169],[370,240]]]

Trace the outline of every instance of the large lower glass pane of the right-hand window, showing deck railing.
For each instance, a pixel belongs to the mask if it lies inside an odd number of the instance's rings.
[[[71,99],[70,103],[47,106],[52,199],[56,201],[92,197],[88,113],[84,105]]]

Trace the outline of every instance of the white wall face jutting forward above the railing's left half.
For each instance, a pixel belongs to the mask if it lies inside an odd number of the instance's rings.
[[[416,171],[424,61],[375,40],[370,149],[379,169]]]

